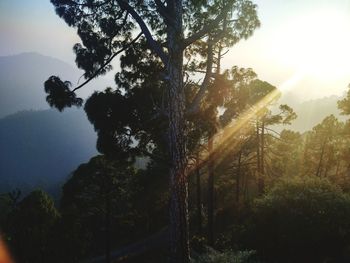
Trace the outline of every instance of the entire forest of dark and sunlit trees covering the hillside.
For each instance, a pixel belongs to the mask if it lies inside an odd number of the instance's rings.
[[[222,65],[262,26],[256,4],[51,3],[77,30],[84,75],[77,85],[47,76],[46,101],[82,107],[99,154],[58,199],[0,194],[15,262],[350,262],[350,86],[337,104],[344,119],[289,129],[298,116],[279,87]],[[109,72],[113,86],[79,97]]]

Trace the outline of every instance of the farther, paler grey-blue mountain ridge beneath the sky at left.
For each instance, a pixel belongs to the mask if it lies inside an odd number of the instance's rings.
[[[79,71],[37,53],[0,57],[0,118],[22,110],[48,109],[43,83],[51,75],[76,80]]]

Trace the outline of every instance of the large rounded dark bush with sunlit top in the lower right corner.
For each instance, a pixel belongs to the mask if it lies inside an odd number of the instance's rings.
[[[350,199],[327,180],[285,180],[255,202],[252,223],[249,246],[264,259],[343,262]]]

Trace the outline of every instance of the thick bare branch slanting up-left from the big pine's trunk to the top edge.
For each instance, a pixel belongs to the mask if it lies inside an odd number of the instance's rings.
[[[164,53],[159,43],[154,40],[151,32],[149,31],[147,25],[140,17],[140,15],[126,1],[117,0],[117,2],[122,9],[127,10],[130,13],[130,15],[135,19],[135,21],[140,26],[142,33],[145,35],[147,43],[151,46],[151,49],[159,56],[162,62],[166,65],[168,63],[168,56]]]

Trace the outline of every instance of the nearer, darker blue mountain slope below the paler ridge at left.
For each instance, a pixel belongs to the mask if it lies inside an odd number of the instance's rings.
[[[23,111],[0,119],[0,192],[54,189],[96,155],[95,142],[82,110]]]

